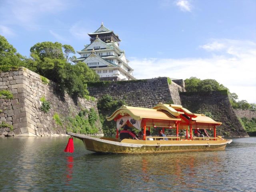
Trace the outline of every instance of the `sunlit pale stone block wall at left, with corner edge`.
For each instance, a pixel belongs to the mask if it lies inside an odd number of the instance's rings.
[[[49,81],[50,82],[50,81]],[[96,102],[78,98],[75,103],[67,94],[61,96],[50,82],[43,84],[40,75],[26,69],[2,72],[0,74],[0,90],[10,90],[13,99],[0,99],[0,123],[7,122],[13,126],[0,128],[0,135],[5,136],[57,136],[66,133],[66,124],[56,124],[53,115],[57,113],[62,120],[67,116],[75,116],[82,109],[94,108]],[[40,98],[45,97],[51,104],[50,112],[40,110]],[[96,122],[100,124],[99,120]],[[99,126],[100,127],[100,126]]]

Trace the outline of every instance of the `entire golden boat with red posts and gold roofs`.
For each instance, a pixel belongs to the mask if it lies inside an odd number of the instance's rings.
[[[95,138],[67,132],[68,135],[81,139],[87,150],[116,154],[152,154],[172,152],[196,152],[224,150],[232,140],[216,136],[216,122],[203,114],[194,114],[180,105],[159,103],[153,109],[122,106],[108,121],[117,122],[116,138]],[[143,131],[142,140],[123,139],[120,141],[119,129],[128,125]],[[175,136],[146,136],[146,130],[160,128],[162,132],[176,129]],[[186,136],[179,136],[179,130],[186,130]],[[193,130],[214,130],[213,137],[193,137]]]

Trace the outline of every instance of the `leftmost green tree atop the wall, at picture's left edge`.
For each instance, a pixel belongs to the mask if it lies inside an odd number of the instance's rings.
[[[8,43],[4,36],[0,35],[0,65],[24,66],[24,56]]]

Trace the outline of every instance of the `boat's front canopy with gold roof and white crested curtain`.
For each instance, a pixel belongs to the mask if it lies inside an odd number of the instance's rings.
[[[175,123],[181,121],[180,118],[176,118],[172,116],[172,114],[162,110],[130,107],[125,105],[116,110],[110,117],[107,117],[106,119],[108,121],[115,120],[118,130],[124,126],[127,121],[127,124],[130,124],[139,130],[141,129],[142,120],[144,120],[142,126],[148,127],[169,127],[174,126]]]

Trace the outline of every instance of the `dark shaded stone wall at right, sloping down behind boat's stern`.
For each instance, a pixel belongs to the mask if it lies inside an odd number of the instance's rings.
[[[213,119],[222,122],[217,134],[229,137],[248,137],[238,120],[226,90],[214,92],[181,92],[182,106],[194,113],[209,113]]]

